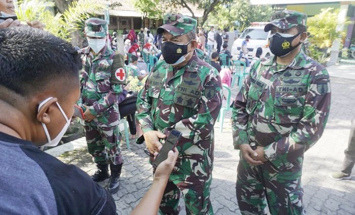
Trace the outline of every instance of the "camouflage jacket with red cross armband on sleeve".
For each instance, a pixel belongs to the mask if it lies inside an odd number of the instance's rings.
[[[96,116],[84,125],[113,127],[119,124],[118,97],[125,84],[123,56],[106,47],[94,56],[89,47],[82,49],[83,69],[80,71],[81,96],[78,105],[89,106],[90,113]],[[116,73],[124,73],[116,76]],[[121,74],[122,75],[122,74]],[[121,79],[121,80],[119,80]]]

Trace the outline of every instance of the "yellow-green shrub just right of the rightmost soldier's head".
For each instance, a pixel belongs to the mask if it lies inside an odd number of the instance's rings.
[[[322,12],[308,18],[307,26],[310,32],[311,45],[318,48],[329,48],[333,41],[345,35],[344,31],[338,31],[337,26],[344,23],[338,22],[339,10],[333,8],[322,9]]]

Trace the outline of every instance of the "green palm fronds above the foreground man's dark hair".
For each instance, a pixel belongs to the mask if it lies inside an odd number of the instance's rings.
[[[95,0],[79,0],[72,2],[64,13],[54,14],[48,8],[54,3],[45,0],[19,1],[16,15],[20,21],[39,20],[45,24],[45,30],[68,42],[72,40],[70,34],[80,29],[82,22],[92,14],[102,10],[105,5]]]

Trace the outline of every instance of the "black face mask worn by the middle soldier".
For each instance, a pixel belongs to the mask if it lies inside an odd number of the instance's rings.
[[[191,43],[191,41],[189,42]],[[161,45],[161,54],[164,57],[165,62],[171,65],[177,65],[185,60],[187,47],[189,43],[185,45],[179,45],[171,42],[164,42]]]

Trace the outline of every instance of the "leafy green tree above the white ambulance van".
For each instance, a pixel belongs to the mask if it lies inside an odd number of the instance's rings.
[[[250,26],[252,22],[270,21],[273,10],[269,5],[251,5],[248,0],[230,0],[220,4],[208,16],[209,24],[218,24],[219,27],[234,27],[239,22],[240,31]]]

